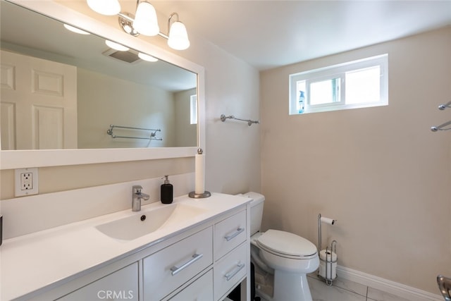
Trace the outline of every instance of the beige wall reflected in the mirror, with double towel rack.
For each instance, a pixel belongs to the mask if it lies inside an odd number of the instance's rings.
[[[174,93],[77,68],[78,148],[175,147]],[[189,108],[186,112],[190,112]],[[185,113],[186,113],[185,112]],[[163,140],[113,139],[109,125],[161,129]],[[149,137],[149,131],[115,128],[114,135]],[[196,138],[191,140],[196,141]],[[189,145],[183,145],[189,146]]]

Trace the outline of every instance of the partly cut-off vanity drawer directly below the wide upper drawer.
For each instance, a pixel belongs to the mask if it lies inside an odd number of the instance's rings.
[[[180,293],[164,301],[211,301],[213,300],[213,269],[206,272]]]

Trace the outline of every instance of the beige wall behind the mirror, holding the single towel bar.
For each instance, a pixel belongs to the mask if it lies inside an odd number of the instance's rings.
[[[84,0],[60,2],[102,20],[114,30],[118,30],[117,18],[100,16],[89,11]],[[124,4],[135,6],[131,1],[125,1]],[[132,9],[124,8],[124,10]],[[163,21],[161,22],[163,24]],[[226,193],[260,191],[258,126],[248,128],[246,123],[222,124],[219,121],[221,113],[233,113],[246,118],[252,115],[252,118],[258,118],[258,71],[206,42],[194,32],[190,32],[191,47],[185,51],[169,49],[166,40],[161,37],[139,38],[146,39],[149,43],[172,51],[205,68],[206,189]],[[48,193],[191,171],[194,171],[194,158],[39,168],[39,191]],[[13,197],[13,182],[12,170],[0,172],[0,199]]]

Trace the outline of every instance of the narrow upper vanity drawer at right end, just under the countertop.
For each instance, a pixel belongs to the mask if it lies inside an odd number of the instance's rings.
[[[233,250],[246,240],[246,211],[240,211],[230,216],[214,227],[215,260]]]

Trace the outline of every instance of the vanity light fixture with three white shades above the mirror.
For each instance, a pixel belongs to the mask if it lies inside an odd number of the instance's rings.
[[[93,11],[107,16],[118,15],[119,25],[129,35],[149,37],[159,35],[168,40],[168,46],[175,50],[185,50],[190,47],[190,39],[185,25],[178,20],[178,13],[171,13],[168,18],[168,34],[160,32],[154,6],[147,0],[137,0],[135,15],[121,12],[118,0],[87,0]],[[119,8],[117,8],[119,6]],[[116,13],[113,13],[116,12]],[[176,17],[176,20],[172,20]]]

